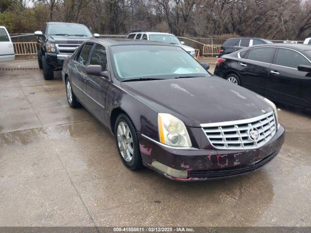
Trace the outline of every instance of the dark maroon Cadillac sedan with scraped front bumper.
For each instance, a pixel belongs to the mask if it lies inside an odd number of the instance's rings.
[[[284,141],[275,105],[206,69],[171,44],[94,39],[65,60],[62,77],[69,105],[111,131],[130,169],[195,181],[267,164]]]

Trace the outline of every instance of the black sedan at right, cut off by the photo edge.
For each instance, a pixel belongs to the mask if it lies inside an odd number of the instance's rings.
[[[311,108],[311,46],[269,44],[222,56],[215,75],[271,100]]]

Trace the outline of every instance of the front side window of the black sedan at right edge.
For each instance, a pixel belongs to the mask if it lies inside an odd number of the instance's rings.
[[[310,62],[300,53],[287,49],[278,49],[275,64],[292,68],[297,68],[299,65],[311,65]]]

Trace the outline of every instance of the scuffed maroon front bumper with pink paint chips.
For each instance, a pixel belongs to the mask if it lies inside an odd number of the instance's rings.
[[[176,181],[205,181],[234,177],[252,172],[270,162],[284,142],[284,128],[280,125],[274,137],[255,150],[175,149],[156,143],[138,134],[143,164]],[[187,178],[176,178],[152,166],[161,163],[176,170],[187,170]]]

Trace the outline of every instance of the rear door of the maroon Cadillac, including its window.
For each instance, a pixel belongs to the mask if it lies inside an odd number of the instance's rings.
[[[72,90],[76,97],[85,103],[85,89],[86,89],[86,65],[88,63],[89,54],[92,50],[93,43],[86,43],[80,53],[77,54],[75,60],[72,60],[71,83]]]

